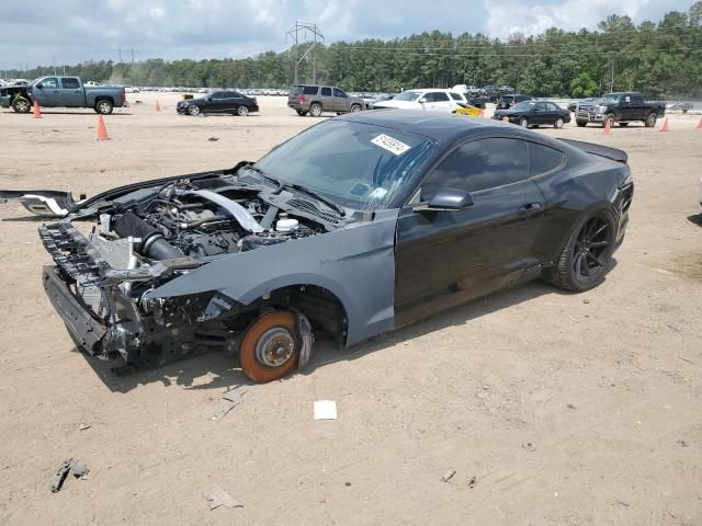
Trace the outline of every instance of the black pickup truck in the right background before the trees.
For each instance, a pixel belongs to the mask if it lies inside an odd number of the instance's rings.
[[[619,123],[626,126],[630,122],[642,121],[646,127],[653,128],[656,119],[666,114],[665,102],[646,102],[641,93],[608,93],[600,99],[578,104],[575,122],[578,126],[597,123],[602,127]]]

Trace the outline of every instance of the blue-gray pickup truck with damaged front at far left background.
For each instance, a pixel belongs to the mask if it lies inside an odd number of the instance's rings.
[[[126,105],[122,85],[83,85],[80,77],[42,77],[29,85],[0,88],[0,106],[27,113],[34,101],[44,107],[91,107],[103,115]]]

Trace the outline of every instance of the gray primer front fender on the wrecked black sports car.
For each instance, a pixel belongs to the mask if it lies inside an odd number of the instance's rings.
[[[217,290],[249,305],[290,285],[317,285],[337,296],[348,318],[347,345],[395,327],[395,229],[398,210],[369,222],[240,252],[148,293],[166,298]]]

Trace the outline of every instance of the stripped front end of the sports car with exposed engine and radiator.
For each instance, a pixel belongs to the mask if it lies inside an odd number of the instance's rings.
[[[236,350],[260,305],[239,304],[215,287],[151,293],[233,254],[333,228],[269,193],[274,190],[240,182],[234,171],[145,183],[41,227],[55,262],[44,267],[44,288],[76,345],[120,359],[117,371],[213,347]]]

